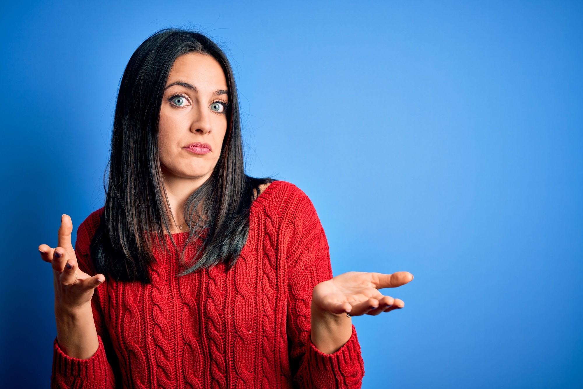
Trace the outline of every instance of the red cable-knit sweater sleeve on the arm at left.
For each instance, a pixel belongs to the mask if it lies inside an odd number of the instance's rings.
[[[77,231],[77,241],[75,244],[77,261],[79,268],[89,275],[95,274],[90,262],[89,245],[97,225],[99,225],[99,219],[100,211],[96,211],[87,217]],[[107,280],[95,290],[91,301],[93,319],[97,329],[97,338],[99,339],[97,352],[89,359],[73,358],[62,352],[57,339],[55,339],[52,357],[51,388],[115,388],[116,376],[118,374],[114,374],[114,370],[116,372],[119,371],[117,356],[113,350],[113,345],[111,345],[107,328],[104,325],[104,315],[99,303],[99,292],[106,287]],[[114,369],[112,366],[117,367],[117,369]]]

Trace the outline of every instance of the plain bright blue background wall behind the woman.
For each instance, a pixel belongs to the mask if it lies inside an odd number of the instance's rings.
[[[583,387],[582,2],[0,8],[0,386],[48,387],[37,246],[103,203],[129,56],[193,23],[229,48],[248,172],[311,197],[334,273],[415,275],[354,318],[364,388]]]

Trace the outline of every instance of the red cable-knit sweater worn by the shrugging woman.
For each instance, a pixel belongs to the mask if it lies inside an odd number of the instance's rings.
[[[77,232],[79,266],[90,275],[102,212]],[[186,234],[173,235],[179,250]],[[332,269],[314,206],[296,186],[273,182],[255,200],[247,244],[228,272],[219,265],[178,277],[174,248],[155,256],[152,283],[106,276],[96,289],[95,355],[66,356],[55,341],[53,388],[360,388],[354,327],[331,355],[310,340],[312,288]]]

